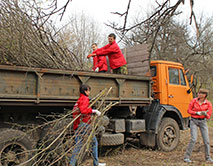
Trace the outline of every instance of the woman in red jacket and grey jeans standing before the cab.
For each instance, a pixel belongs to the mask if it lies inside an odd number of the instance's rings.
[[[203,138],[206,161],[213,162],[210,157],[208,126],[206,123],[206,119],[209,119],[212,114],[212,104],[206,99],[207,96],[208,90],[200,89],[198,92],[198,97],[194,98],[189,104],[188,113],[191,114],[191,139],[184,155],[184,162],[191,162],[190,156],[197,141],[197,127],[200,128]]]

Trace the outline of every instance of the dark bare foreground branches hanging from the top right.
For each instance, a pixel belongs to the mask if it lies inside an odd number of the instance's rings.
[[[115,22],[110,22],[106,24],[107,26],[111,27],[116,31],[116,33],[120,36],[121,40],[125,38],[127,33],[131,30],[134,30],[135,28],[141,27],[142,25],[149,24],[150,25],[150,31],[152,34],[154,34],[155,37],[157,37],[158,32],[160,31],[161,27],[164,26],[164,24],[167,22],[167,20],[170,20],[175,15],[177,15],[178,9],[180,8],[181,4],[185,4],[185,0],[165,0],[165,1],[158,1],[156,0],[156,7],[153,10],[153,12],[146,18],[141,19],[139,22],[134,24],[128,24],[128,16],[131,9],[131,3],[133,1],[129,0],[127,4],[126,11],[123,13],[120,12],[114,12],[113,14],[119,15],[123,17],[123,24],[119,25]],[[191,10],[191,16],[190,16],[190,24],[194,20],[197,35],[199,35],[199,29],[197,25],[197,20],[195,17],[195,13],[193,11],[194,6],[194,0],[189,0],[190,2],[190,9]],[[157,25],[157,26],[156,26]],[[154,38],[155,39],[155,38]],[[154,47],[154,42],[152,42],[152,46],[150,48],[150,51],[152,51]]]

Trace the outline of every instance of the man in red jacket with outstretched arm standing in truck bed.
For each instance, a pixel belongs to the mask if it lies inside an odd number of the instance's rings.
[[[127,63],[122,54],[118,44],[115,41],[116,35],[114,33],[109,34],[108,41],[109,44],[102,48],[98,48],[93,51],[92,54],[89,54],[87,58],[94,56],[108,56],[110,68],[115,74],[128,74]]]

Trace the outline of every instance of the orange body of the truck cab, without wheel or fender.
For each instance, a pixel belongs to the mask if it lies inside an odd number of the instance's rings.
[[[154,98],[162,105],[176,107],[183,118],[188,118],[188,105],[192,100],[189,82],[182,64],[171,61],[151,61]]]

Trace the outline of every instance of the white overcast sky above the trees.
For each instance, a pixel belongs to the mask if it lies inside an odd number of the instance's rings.
[[[69,17],[72,12],[85,12],[100,24],[119,21],[119,16],[111,14],[111,12],[124,12],[129,0],[72,0],[67,8],[64,20]],[[172,0],[174,1],[174,0]],[[171,1],[171,2],[172,2]],[[59,0],[59,5],[65,4],[67,0]],[[185,4],[181,5],[184,12],[183,18],[189,18],[190,0],[185,0]],[[155,0],[132,0],[130,6],[130,17],[134,16],[139,10],[146,13],[155,3]],[[213,15],[213,0],[194,0],[194,10],[196,14],[204,13],[205,15]],[[63,21],[63,20],[62,20]]]

